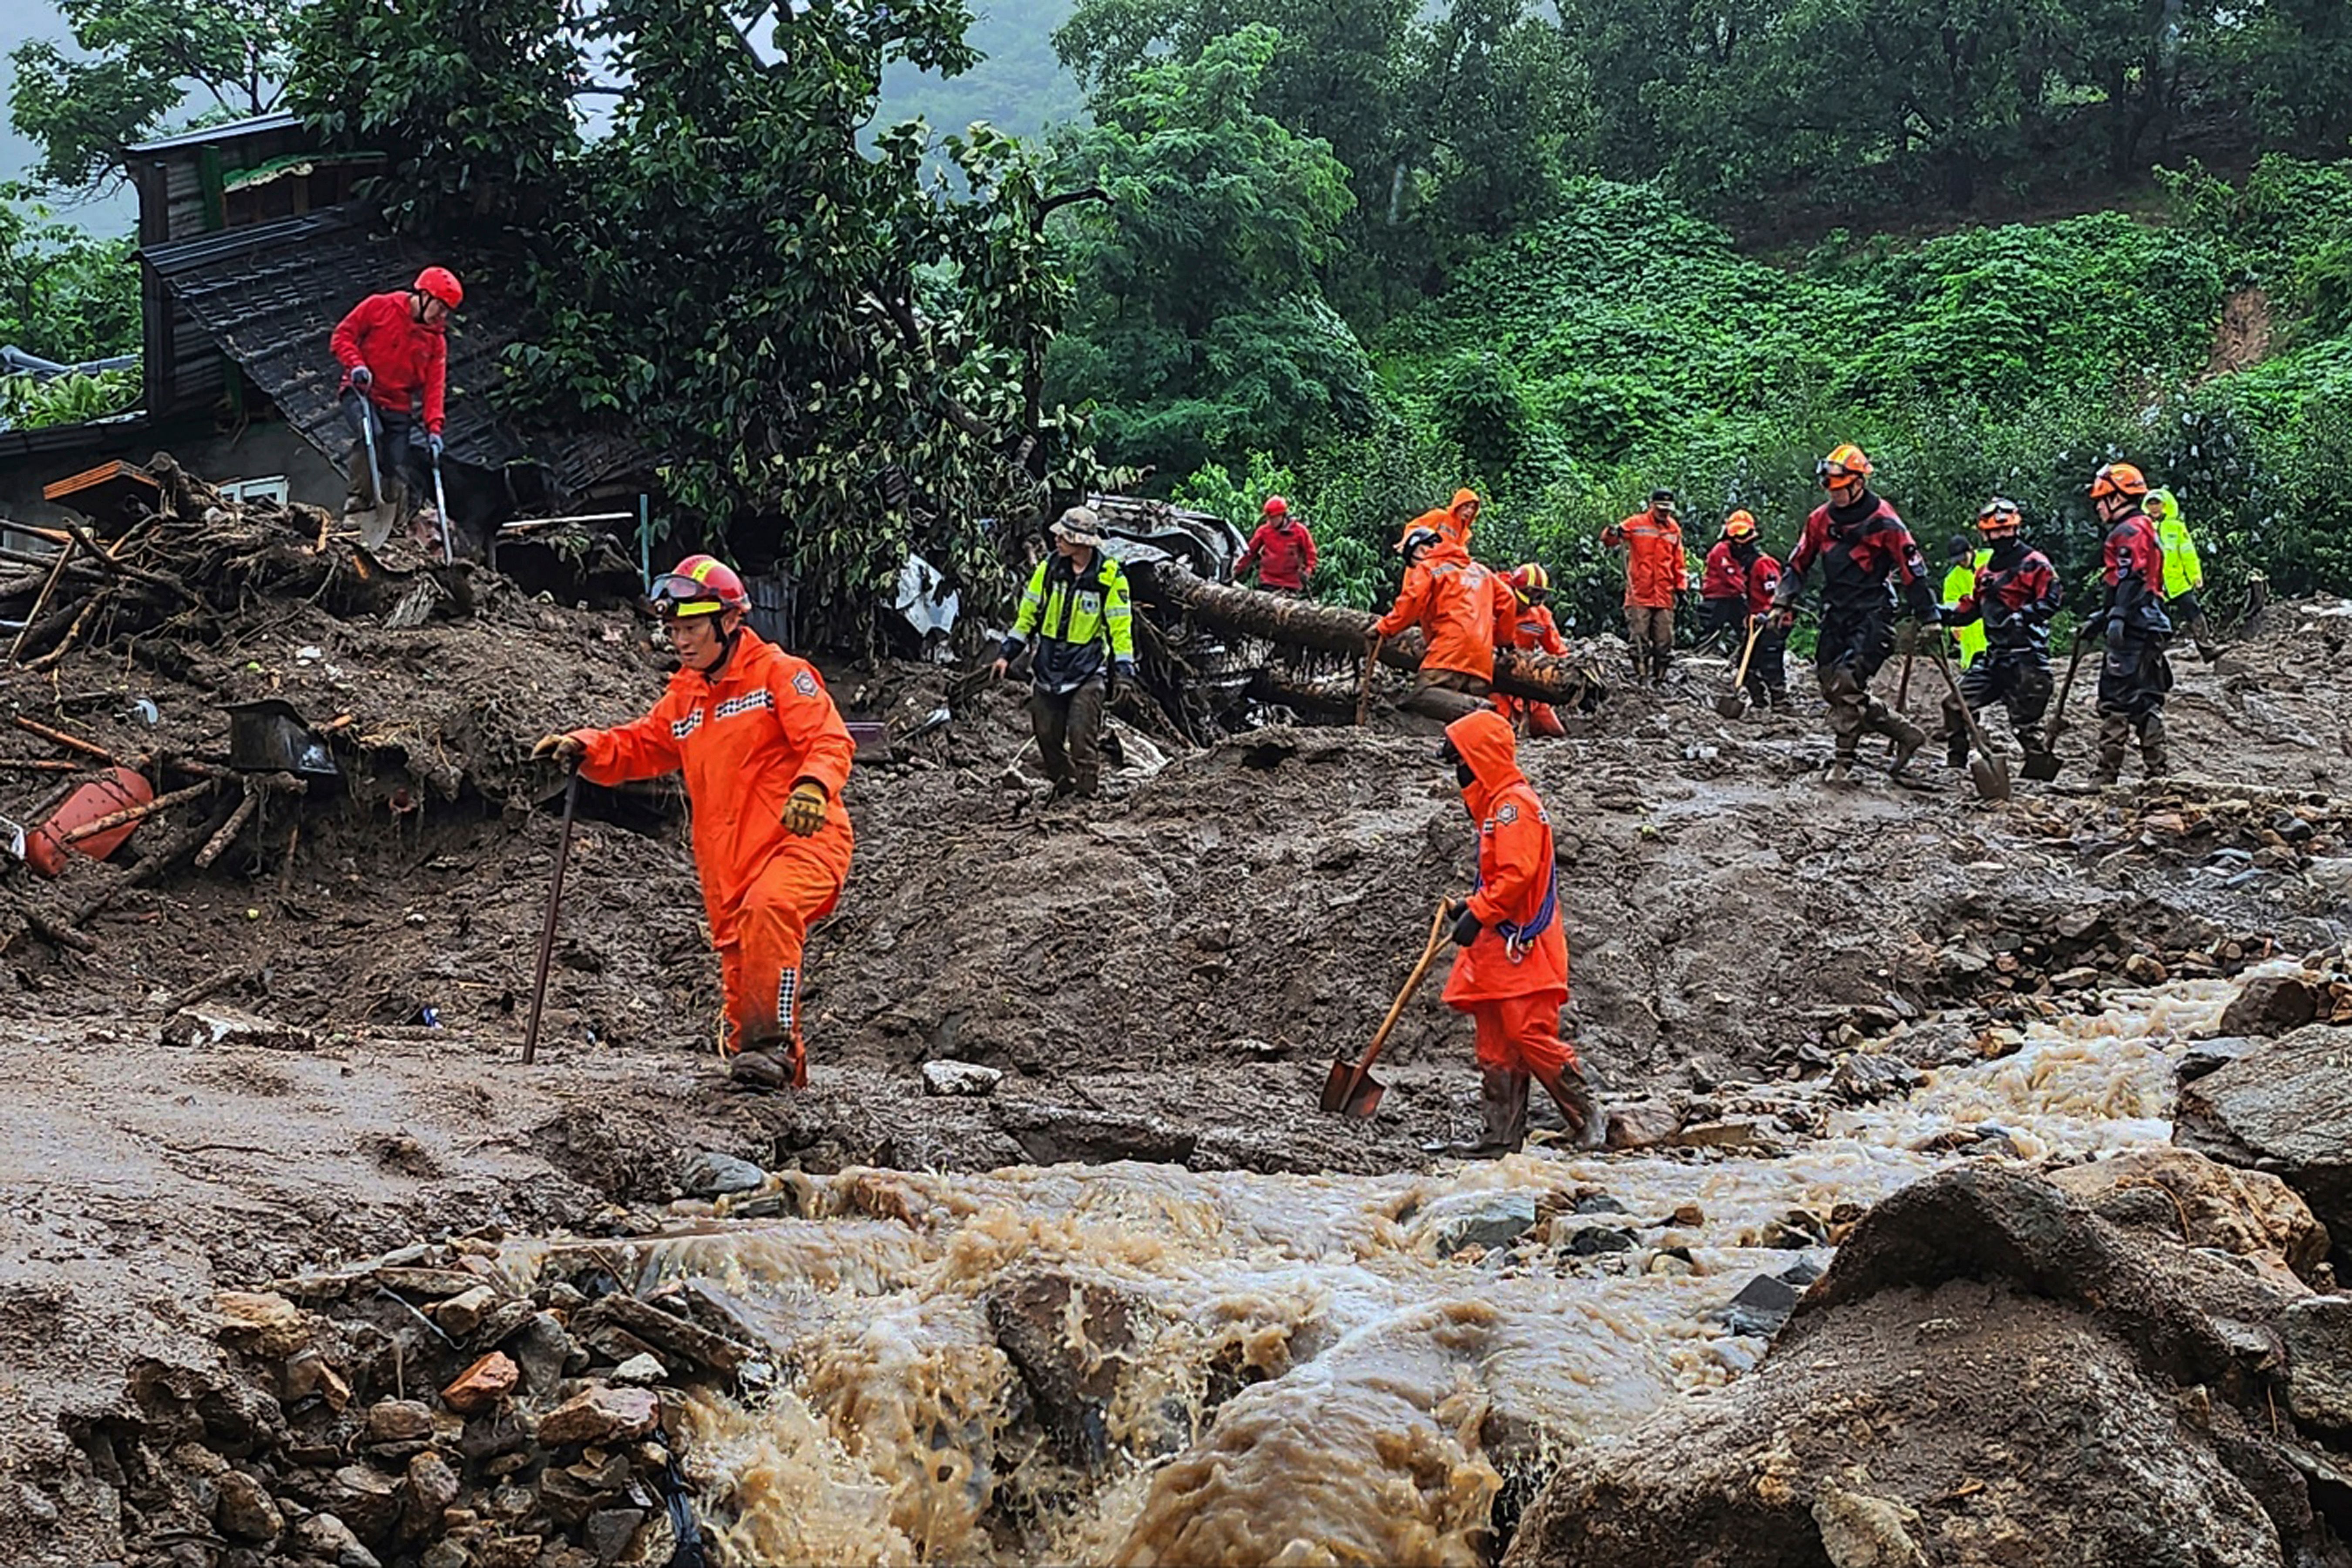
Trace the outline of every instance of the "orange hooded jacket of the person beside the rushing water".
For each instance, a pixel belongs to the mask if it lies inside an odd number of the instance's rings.
[[[1519,771],[1510,722],[1491,710],[1446,724],[1446,738],[1470,764],[1463,804],[1477,820],[1477,889],[1470,912],[1477,940],[1454,954],[1446,1004],[1503,997],[1569,994],[1569,938],[1559,929],[1559,870],[1552,865],[1552,818]]]

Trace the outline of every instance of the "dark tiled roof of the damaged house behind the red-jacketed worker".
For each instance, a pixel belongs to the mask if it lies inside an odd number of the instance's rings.
[[[405,289],[440,261],[409,240],[376,233],[358,205],[153,244],[141,259],[334,463],[343,461],[350,433],[336,407],[343,371],[327,353],[327,336],[365,296]],[[447,456],[489,470],[532,463],[564,501],[649,468],[644,449],[626,437],[529,435],[492,414],[485,393],[520,320],[517,303],[468,284],[466,310],[449,327]]]

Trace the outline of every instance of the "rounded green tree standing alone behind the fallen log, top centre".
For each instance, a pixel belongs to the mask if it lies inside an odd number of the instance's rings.
[[[1303,451],[1369,416],[1371,369],[1324,303],[1348,172],[1258,108],[1279,52],[1247,26],[1195,61],[1145,66],[1063,148],[1077,308],[1047,357],[1056,397],[1096,400],[1105,447],[1188,475]]]

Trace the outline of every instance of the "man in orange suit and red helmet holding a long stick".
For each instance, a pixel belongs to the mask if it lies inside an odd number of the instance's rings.
[[[720,950],[729,1074],[802,1088],[800,954],[849,877],[849,759],[856,745],[823,677],[743,625],[743,578],[689,555],[654,578],[654,611],[680,658],[642,719],[548,736],[534,757],[590,783],[687,776],[694,865]]]

